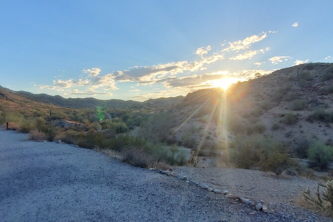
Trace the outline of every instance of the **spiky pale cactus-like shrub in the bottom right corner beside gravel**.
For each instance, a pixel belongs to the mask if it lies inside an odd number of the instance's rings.
[[[323,188],[324,191],[320,191]],[[320,209],[330,216],[333,215],[333,180],[329,180],[326,184],[318,183],[315,196],[311,194],[310,187],[304,190],[303,197],[309,204],[314,205],[316,209]]]

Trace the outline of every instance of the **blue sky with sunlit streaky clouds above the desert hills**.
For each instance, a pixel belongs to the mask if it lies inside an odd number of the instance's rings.
[[[1,0],[0,85],[145,101],[333,62],[332,8],[332,0]]]

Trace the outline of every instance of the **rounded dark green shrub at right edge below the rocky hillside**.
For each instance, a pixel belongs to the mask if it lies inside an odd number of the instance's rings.
[[[308,158],[312,168],[327,169],[333,160],[333,147],[322,143],[315,143],[309,147]]]

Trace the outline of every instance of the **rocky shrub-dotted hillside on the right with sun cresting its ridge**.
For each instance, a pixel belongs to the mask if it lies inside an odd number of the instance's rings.
[[[173,111],[174,140],[214,147],[239,134],[272,135],[290,147],[333,144],[333,64],[309,63],[221,89],[188,94]],[[227,135],[222,138],[223,135]]]

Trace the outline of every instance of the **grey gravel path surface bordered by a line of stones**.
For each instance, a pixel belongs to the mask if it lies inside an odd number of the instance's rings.
[[[0,130],[0,221],[330,221],[266,214],[89,149]]]

